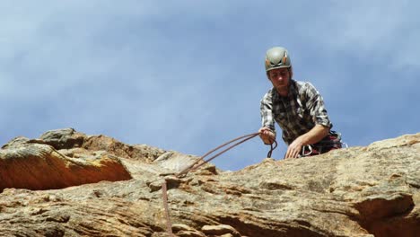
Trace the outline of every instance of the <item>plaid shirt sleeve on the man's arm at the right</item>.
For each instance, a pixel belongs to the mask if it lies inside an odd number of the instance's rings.
[[[328,118],[327,109],[325,108],[324,99],[318,90],[311,83],[307,83],[306,92],[308,96],[307,107],[310,110],[313,122],[325,127],[332,127]]]

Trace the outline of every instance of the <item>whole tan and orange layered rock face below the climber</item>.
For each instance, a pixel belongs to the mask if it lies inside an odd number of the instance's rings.
[[[0,150],[1,236],[419,236],[420,134],[241,171],[74,129]]]

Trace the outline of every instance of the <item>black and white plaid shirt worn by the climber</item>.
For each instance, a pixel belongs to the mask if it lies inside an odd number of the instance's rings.
[[[322,96],[311,83],[291,79],[286,97],[272,88],[261,100],[260,111],[262,126],[276,132],[276,121],[283,130],[282,137],[287,145],[317,124],[332,127]]]

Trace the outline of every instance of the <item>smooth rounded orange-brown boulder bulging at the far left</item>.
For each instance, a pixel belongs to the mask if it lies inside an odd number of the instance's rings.
[[[66,154],[38,141],[13,140],[0,150],[0,190],[63,189],[132,178],[118,157],[111,154],[83,154],[77,159]]]

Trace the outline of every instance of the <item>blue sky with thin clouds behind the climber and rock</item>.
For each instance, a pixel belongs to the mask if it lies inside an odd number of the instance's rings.
[[[74,127],[206,154],[258,131],[274,46],[289,49],[294,79],[317,87],[348,145],[417,133],[418,9],[414,0],[4,2],[0,143]],[[254,138],[214,163],[238,170],[267,151]]]

